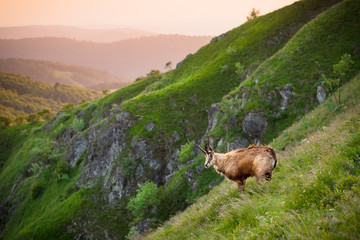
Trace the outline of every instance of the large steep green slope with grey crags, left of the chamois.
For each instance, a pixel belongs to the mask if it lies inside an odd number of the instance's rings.
[[[59,113],[46,125],[1,130],[2,237],[124,238],[134,230],[156,227],[185,209],[222,180],[213,170],[202,168],[203,157],[193,149],[211,130],[210,126],[207,131],[208,113],[211,116],[216,110],[213,104],[229,93],[224,101],[231,100],[242,89],[238,88],[241,82],[252,79],[274,54],[288,49],[296,39],[294,35],[301,36],[307,25],[322,29],[327,21],[319,19],[332,16],[344,23],[348,34],[356,32],[356,18],[333,13],[353,14],[358,3],[345,1],[327,10],[336,2],[297,2],[213,39],[173,71],[165,74],[153,71],[99,101]],[[317,17],[321,12],[324,14]],[[328,30],[328,35],[334,36],[338,29]],[[308,37],[317,39],[322,36],[320,33],[314,31]],[[344,37],[339,41],[331,39],[334,45],[344,45],[344,49],[352,49],[349,46],[357,43],[356,38],[347,42],[341,42]],[[315,45],[314,48],[323,48]],[[333,49],[324,51],[330,53]],[[335,52],[320,64],[330,69],[343,54]],[[353,59],[356,73],[359,59],[356,55]],[[312,61],[304,62],[307,66]],[[272,67],[268,69],[271,70]],[[301,70],[307,72],[306,68]],[[290,67],[288,71],[292,71]],[[310,83],[306,87],[315,86]],[[280,94],[276,94],[278,101]],[[249,97],[246,102],[249,104]],[[245,110],[252,111],[256,104],[263,103],[260,97],[252,102],[244,105]],[[315,102],[309,103],[304,111],[301,110],[304,105],[293,108],[303,113],[314,105]],[[239,106],[236,107],[240,109]],[[232,148],[237,133],[250,143],[252,139],[241,133],[238,120],[233,124],[235,130],[222,129],[225,125],[219,115],[237,114],[232,114],[232,104],[221,103],[220,107],[222,112],[215,118],[217,127],[212,129],[216,132],[210,132],[214,143],[221,140],[220,134],[228,135],[223,139],[224,146],[229,143]],[[281,116],[286,119],[285,127],[295,120],[286,114]],[[79,122],[83,123],[81,128]],[[272,131],[273,135],[280,133],[281,128]],[[156,183],[155,187],[148,181]],[[150,186],[145,190],[150,189],[158,201],[141,205],[144,186]],[[138,205],[133,199],[140,199]],[[139,214],[131,210],[134,205],[143,211]],[[130,228],[133,231],[129,233]]]

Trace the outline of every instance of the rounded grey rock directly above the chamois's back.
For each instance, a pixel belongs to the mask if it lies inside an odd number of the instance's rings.
[[[267,129],[268,122],[263,113],[250,112],[242,121],[243,131],[255,140],[261,139],[261,136]]]

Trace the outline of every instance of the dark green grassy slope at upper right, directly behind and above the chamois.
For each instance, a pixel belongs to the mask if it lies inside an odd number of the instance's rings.
[[[336,4],[306,24],[282,49],[262,62],[223,100],[241,99],[245,95],[246,105],[236,114],[239,122],[249,111],[264,112],[269,124],[262,140],[269,143],[318,104],[316,87],[321,84],[321,74],[331,75],[333,65],[346,53],[355,61],[349,73],[350,78],[354,77],[360,69],[360,55],[356,53],[360,32],[354,30],[360,26],[359,10],[358,1]],[[293,95],[287,109],[280,111],[279,90],[289,83],[293,86]],[[220,121],[218,128],[225,129],[225,126],[226,120]],[[224,130],[217,129],[216,133],[219,139],[225,135]]]

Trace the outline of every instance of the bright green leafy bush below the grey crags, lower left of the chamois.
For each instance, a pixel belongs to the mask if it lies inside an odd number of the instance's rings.
[[[136,196],[130,199],[127,208],[135,218],[142,219],[151,207],[159,205],[158,193],[159,189],[155,183],[146,182],[137,190]]]

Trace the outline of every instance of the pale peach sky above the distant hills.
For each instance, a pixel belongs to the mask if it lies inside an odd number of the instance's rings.
[[[155,33],[219,35],[296,0],[0,0],[0,26],[129,27]]]

